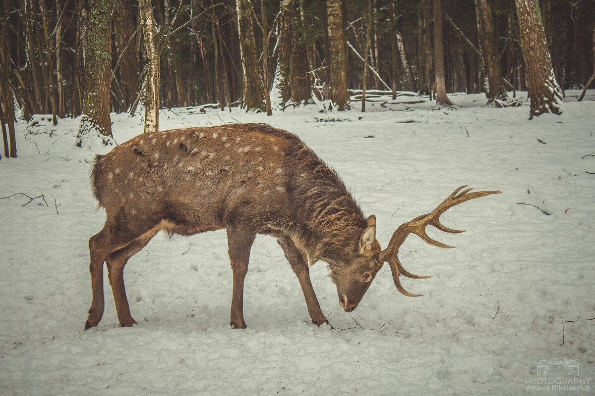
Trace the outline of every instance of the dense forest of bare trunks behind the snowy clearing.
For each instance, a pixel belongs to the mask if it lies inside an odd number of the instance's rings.
[[[559,113],[565,90],[593,86],[594,21],[595,0],[5,0],[4,154],[15,109],[82,116],[79,140],[111,135],[112,112],[144,107],[155,131],[162,108],[270,115],[271,95],[363,112],[369,90],[497,107],[527,90],[531,118]]]

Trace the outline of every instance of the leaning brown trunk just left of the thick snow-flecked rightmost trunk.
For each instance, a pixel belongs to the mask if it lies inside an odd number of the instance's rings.
[[[508,93],[502,78],[500,66],[500,53],[496,46],[496,34],[494,21],[491,13],[491,6],[488,0],[475,0],[477,17],[479,22],[479,36],[483,61],[487,72],[487,103],[494,103],[494,100],[508,100]]]

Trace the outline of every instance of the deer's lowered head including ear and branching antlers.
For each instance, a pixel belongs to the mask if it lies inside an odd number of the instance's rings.
[[[339,294],[339,303],[346,312],[352,312],[361,301],[365,292],[368,290],[372,280],[383,267],[384,262],[388,262],[390,270],[393,274],[394,285],[400,293],[409,297],[418,297],[421,294],[409,293],[403,289],[399,277],[403,275],[413,279],[430,278],[431,276],[421,276],[409,273],[406,271],[399,261],[399,248],[405,241],[406,237],[414,233],[423,239],[425,242],[440,248],[454,248],[455,246],[444,245],[444,243],[431,239],[425,232],[425,227],[428,225],[434,226],[440,231],[448,233],[461,233],[462,230],[453,230],[444,227],[440,223],[440,215],[449,208],[462,202],[469,201],[469,199],[485,197],[491,194],[500,194],[501,191],[477,191],[469,192],[472,188],[468,188],[462,192],[466,186],[457,188],[444,201],[441,202],[436,209],[431,213],[414,218],[414,220],[401,224],[390,239],[389,245],[386,249],[381,250],[380,243],[375,238],[376,235],[376,219],[372,215],[367,218],[368,227],[362,232],[359,243],[353,249],[353,256],[349,260],[349,264],[341,267],[334,266],[330,263],[331,279],[337,286],[337,293]],[[460,193],[459,193],[460,192]]]

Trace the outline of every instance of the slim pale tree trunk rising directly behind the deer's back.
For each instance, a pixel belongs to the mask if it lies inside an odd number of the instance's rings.
[[[161,64],[151,0],[139,0],[139,10],[147,57],[149,58],[145,98],[145,133],[148,133],[159,131],[159,108],[161,107],[161,96],[159,95],[161,75],[159,72]]]

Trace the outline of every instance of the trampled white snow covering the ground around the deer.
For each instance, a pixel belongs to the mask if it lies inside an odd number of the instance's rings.
[[[468,232],[429,230],[458,248],[406,240],[403,266],[434,275],[403,279],[423,297],[402,296],[386,268],[346,313],[326,265],[315,264],[333,328],[309,322],[283,252],[259,236],[248,329],[232,330],[226,236],[210,232],[158,235],[130,259],[133,328],[118,327],[105,276],[103,319],[84,332],[87,240],[104,222],[89,168],[109,148],[75,147],[78,119],[19,121],[18,159],[0,161],[0,198],[43,198],[0,200],[0,395],[594,394],[593,91],[584,102],[568,97],[562,116],[532,121],[526,98],[506,109],[484,106],[483,95],[453,95],[456,109],[369,100],[366,113],[353,103],[338,114],[317,104],[271,117],[192,107],[160,118],[162,130],[267,122],[294,132],[376,215],[383,246],[458,186],[503,191],[442,217]],[[142,132],[140,115],[112,121],[118,142]]]

